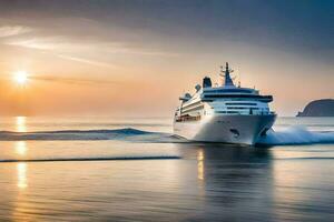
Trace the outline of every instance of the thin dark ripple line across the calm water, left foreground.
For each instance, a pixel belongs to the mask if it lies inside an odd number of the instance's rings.
[[[177,160],[177,155],[168,157],[119,157],[119,158],[68,158],[68,159],[28,159],[28,160],[0,160],[0,163],[12,162],[69,162],[69,161],[126,161],[126,160]]]

